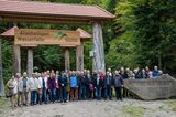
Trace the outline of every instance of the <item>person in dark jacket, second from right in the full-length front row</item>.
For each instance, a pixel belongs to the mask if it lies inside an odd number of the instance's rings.
[[[109,97],[109,99],[112,100],[113,76],[109,73],[109,71],[106,74],[105,81],[107,85],[106,98]]]

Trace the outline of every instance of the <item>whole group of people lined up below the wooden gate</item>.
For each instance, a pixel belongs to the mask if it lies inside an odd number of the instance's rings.
[[[42,73],[35,72],[28,77],[26,72],[22,76],[16,73],[16,76],[12,76],[7,83],[8,97],[13,107],[94,98],[112,100],[114,89],[116,98],[122,100],[122,97],[128,96],[128,91],[123,88],[123,79],[152,78],[161,74],[163,72],[158,71],[157,66],[154,67],[154,71],[150,71],[148,67],[141,71],[121,67],[120,71],[112,72],[111,68],[108,68],[106,74],[102,71],[90,73],[89,70],[69,72],[52,70]]]

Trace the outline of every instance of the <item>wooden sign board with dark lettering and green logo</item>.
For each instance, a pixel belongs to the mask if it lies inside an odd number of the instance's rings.
[[[65,30],[15,29],[14,44],[21,46],[80,45],[80,33]]]

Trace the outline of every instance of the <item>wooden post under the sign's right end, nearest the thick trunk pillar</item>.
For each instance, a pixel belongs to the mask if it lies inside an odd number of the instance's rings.
[[[76,70],[84,71],[84,43],[76,47]]]

